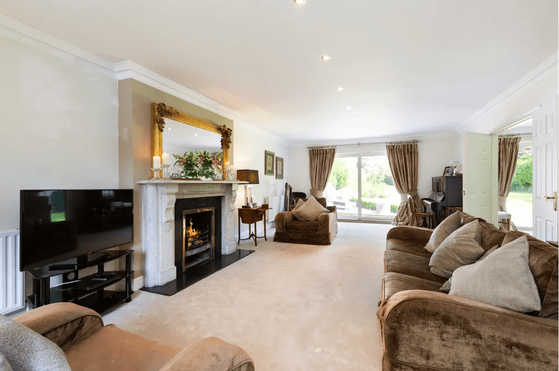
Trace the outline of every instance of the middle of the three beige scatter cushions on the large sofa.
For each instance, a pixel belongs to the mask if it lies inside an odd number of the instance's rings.
[[[429,267],[432,273],[450,278],[454,270],[472,264],[480,259],[484,252],[481,246],[480,222],[474,220],[456,229],[439,245],[431,256]]]

